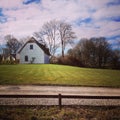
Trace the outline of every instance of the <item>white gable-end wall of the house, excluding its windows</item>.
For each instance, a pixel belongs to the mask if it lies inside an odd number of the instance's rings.
[[[33,45],[33,49],[30,49]],[[28,56],[28,62],[25,61],[25,56]],[[27,43],[20,52],[20,63],[31,63],[32,57],[35,58],[33,63],[44,63],[44,52],[36,43]]]

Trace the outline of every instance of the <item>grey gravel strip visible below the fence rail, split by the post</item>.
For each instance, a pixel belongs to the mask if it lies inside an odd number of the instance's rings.
[[[56,98],[0,98],[0,105],[58,105]],[[120,106],[120,100],[62,99],[62,105],[114,105]]]

